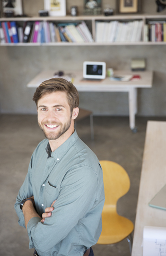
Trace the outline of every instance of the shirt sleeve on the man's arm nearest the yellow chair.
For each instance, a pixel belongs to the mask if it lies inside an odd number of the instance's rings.
[[[94,207],[97,188],[97,174],[90,167],[82,166],[68,171],[51,217],[46,218],[44,223],[36,217],[28,222],[30,248],[46,252],[62,241]]]

